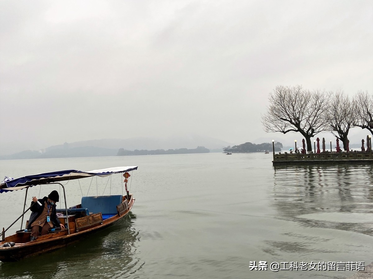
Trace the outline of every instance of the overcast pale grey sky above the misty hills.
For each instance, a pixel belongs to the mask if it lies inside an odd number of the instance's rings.
[[[260,114],[277,85],[373,92],[372,1],[1,1],[0,38],[0,154],[276,139]]]

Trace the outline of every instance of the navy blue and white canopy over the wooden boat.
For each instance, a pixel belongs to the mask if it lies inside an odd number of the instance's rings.
[[[8,178],[4,179],[0,183],[0,193],[21,190],[26,187],[32,187],[35,185],[48,184],[52,182],[59,182],[64,180],[79,179],[91,176],[108,176],[114,173],[124,173],[126,171],[137,170],[137,166],[127,167],[112,167],[101,170],[81,171],[81,170],[61,170],[53,171],[50,173],[39,173],[34,175],[23,176],[19,178]]]

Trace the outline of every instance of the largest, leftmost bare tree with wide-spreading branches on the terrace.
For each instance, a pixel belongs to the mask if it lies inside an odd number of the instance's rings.
[[[302,86],[277,86],[269,95],[270,105],[262,115],[266,132],[300,132],[312,151],[311,137],[328,127],[325,117],[331,93],[304,90]]]

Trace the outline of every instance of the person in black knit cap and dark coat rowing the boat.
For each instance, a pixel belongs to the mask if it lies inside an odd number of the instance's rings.
[[[38,201],[41,205],[38,204]],[[56,202],[58,201],[59,195],[56,190],[43,199],[32,197],[30,208],[32,213],[27,227],[28,230],[31,230],[31,241],[34,241],[39,235],[48,234],[50,228],[65,228],[57,218]]]

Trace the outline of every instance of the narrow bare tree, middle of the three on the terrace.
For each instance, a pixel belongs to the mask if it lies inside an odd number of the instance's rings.
[[[348,132],[357,118],[353,101],[343,91],[337,91],[330,100],[328,114],[332,134],[343,142],[343,148],[347,150]]]

